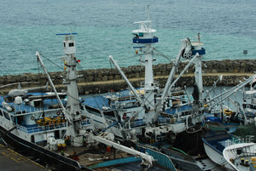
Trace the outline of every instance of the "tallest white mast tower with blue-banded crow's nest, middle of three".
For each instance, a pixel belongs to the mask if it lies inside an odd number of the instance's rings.
[[[144,84],[144,98],[145,98],[145,106],[147,111],[155,109],[154,104],[154,94],[156,94],[155,90],[157,89],[154,85],[154,74],[153,74],[153,48],[151,45],[153,43],[158,43],[158,37],[154,37],[154,32],[156,30],[151,28],[151,20],[146,21],[138,21],[135,24],[139,24],[138,30],[133,30],[132,33],[135,37],[133,37],[133,43],[137,43],[139,51],[144,54],[144,60],[142,61],[145,66],[145,84]]]

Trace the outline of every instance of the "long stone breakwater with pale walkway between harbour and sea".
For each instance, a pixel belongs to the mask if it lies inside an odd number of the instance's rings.
[[[180,63],[178,71],[182,71],[187,65],[187,62]],[[223,75],[222,82],[218,83],[221,86],[234,86],[242,81],[243,78],[247,78],[253,75],[254,66],[256,60],[209,60],[202,61],[203,71],[203,84],[204,86],[212,86],[212,84],[218,79],[219,75]],[[172,70],[172,64],[158,64],[154,67],[154,80],[159,83],[160,88],[163,88],[166,84],[166,79]],[[125,72],[134,87],[140,87],[144,79],[144,67],[143,66],[129,66],[123,67]],[[187,87],[193,86],[194,81],[194,66],[190,66],[189,70],[185,72],[183,77],[177,82],[177,86]],[[62,84],[64,72],[50,72],[50,77],[55,83],[55,87],[58,90],[65,88]],[[127,88],[125,81],[121,78],[119,71],[115,68],[104,68],[97,70],[83,70],[79,71],[79,94],[97,94]],[[62,77],[63,76],[63,77]],[[44,73],[25,73],[22,75],[4,75],[0,77],[0,87],[21,83],[22,88],[30,88],[38,85],[45,85],[47,79]],[[17,88],[17,84],[11,87],[1,88],[1,94],[5,94],[10,88]]]

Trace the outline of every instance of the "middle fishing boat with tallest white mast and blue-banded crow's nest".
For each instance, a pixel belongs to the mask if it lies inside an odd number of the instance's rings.
[[[195,123],[201,123],[203,115],[195,112],[194,100],[186,90],[175,88],[175,84],[189,66],[195,64],[195,83],[198,93],[202,93],[201,58],[205,49],[202,43],[191,44],[189,38],[183,39],[182,46],[173,64],[172,71],[164,89],[154,82],[154,43],[158,37],[151,28],[151,20],[138,21],[139,29],[132,31],[136,54],[145,66],[144,86],[134,88],[113,56],[109,60],[117,68],[128,85],[120,92],[109,92],[83,98],[86,117],[94,121],[95,127],[108,130],[123,140],[152,143],[163,140],[175,140],[175,135],[182,133]],[[174,79],[177,66],[184,58],[188,65]]]

